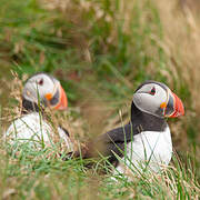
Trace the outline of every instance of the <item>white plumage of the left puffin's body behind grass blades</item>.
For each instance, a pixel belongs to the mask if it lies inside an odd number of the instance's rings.
[[[63,130],[58,128],[58,132],[67,148],[71,148],[71,141]],[[6,140],[12,146],[28,143],[30,147],[41,148],[43,144],[52,143],[53,134],[56,134],[53,129],[42,119],[42,116],[33,112],[14,120],[6,132]]]

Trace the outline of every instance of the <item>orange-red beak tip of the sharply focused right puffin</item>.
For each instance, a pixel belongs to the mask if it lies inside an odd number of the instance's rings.
[[[179,116],[183,116],[184,114],[184,107],[182,101],[173,93],[171,92],[172,97],[173,97],[173,112],[171,113],[171,116],[169,116],[169,118],[177,118]]]

